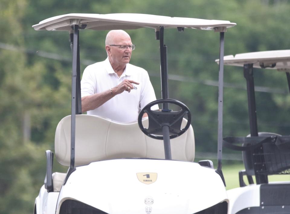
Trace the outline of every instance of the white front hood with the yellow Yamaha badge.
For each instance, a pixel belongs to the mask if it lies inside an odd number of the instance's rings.
[[[145,203],[148,197],[152,204]],[[197,163],[118,159],[77,167],[62,187],[58,204],[67,199],[110,214],[146,213],[148,207],[152,214],[192,214],[227,201],[227,194],[215,170]]]

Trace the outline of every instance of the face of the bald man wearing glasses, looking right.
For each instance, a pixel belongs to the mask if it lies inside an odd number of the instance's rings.
[[[132,45],[130,37],[120,35],[114,40],[111,45]],[[132,50],[129,47],[126,50],[121,50],[119,46],[110,46],[110,61],[114,65],[122,65],[130,62]]]

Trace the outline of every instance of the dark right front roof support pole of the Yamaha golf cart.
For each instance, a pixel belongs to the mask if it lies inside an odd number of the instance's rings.
[[[218,76],[218,173],[222,175],[223,155],[223,98],[224,97],[224,32],[220,32],[220,64]],[[223,176],[222,176],[223,177]]]

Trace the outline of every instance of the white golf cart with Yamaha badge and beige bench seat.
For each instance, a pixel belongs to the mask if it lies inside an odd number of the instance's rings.
[[[72,113],[56,128],[54,151],[57,161],[69,169],[67,173],[53,173],[53,152],[46,151],[46,177],[35,200],[34,214],[227,213],[221,171],[222,133],[218,140],[218,169],[208,160],[194,163],[190,111],[168,95],[163,35],[166,28],[220,32],[223,60],[224,32],[235,25],[229,21],[147,14],[67,14],[34,25],[35,30],[68,31],[73,55]],[[154,29],[160,41],[162,99],[144,107],[135,123],[82,115],[79,31],[141,27]],[[222,75],[221,64],[221,80]],[[162,104],[162,110],[151,110],[155,104]],[[179,109],[170,110],[169,104]],[[147,120],[142,120],[144,112],[149,116]]]

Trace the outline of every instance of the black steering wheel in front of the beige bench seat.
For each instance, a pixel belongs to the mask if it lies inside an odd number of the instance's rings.
[[[179,111],[172,111],[172,110],[151,110],[153,105],[159,103],[171,103],[181,107]],[[143,114],[148,114],[149,126],[148,129],[144,128],[142,124],[142,117]],[[187,114],[187,123],[183,129],[181,129],[182,119]],[[138,116],[138,125],[141,131],[146,134],[147,136],[154,138],[154,139],[163,139],[163,132],[162,127],[168,126],[169,127],[169,135],[170,139],[176,138],[189,128],[191,123],[191,113],[188,107],[173,99],[159,99],[147,104],[139,113]]]

